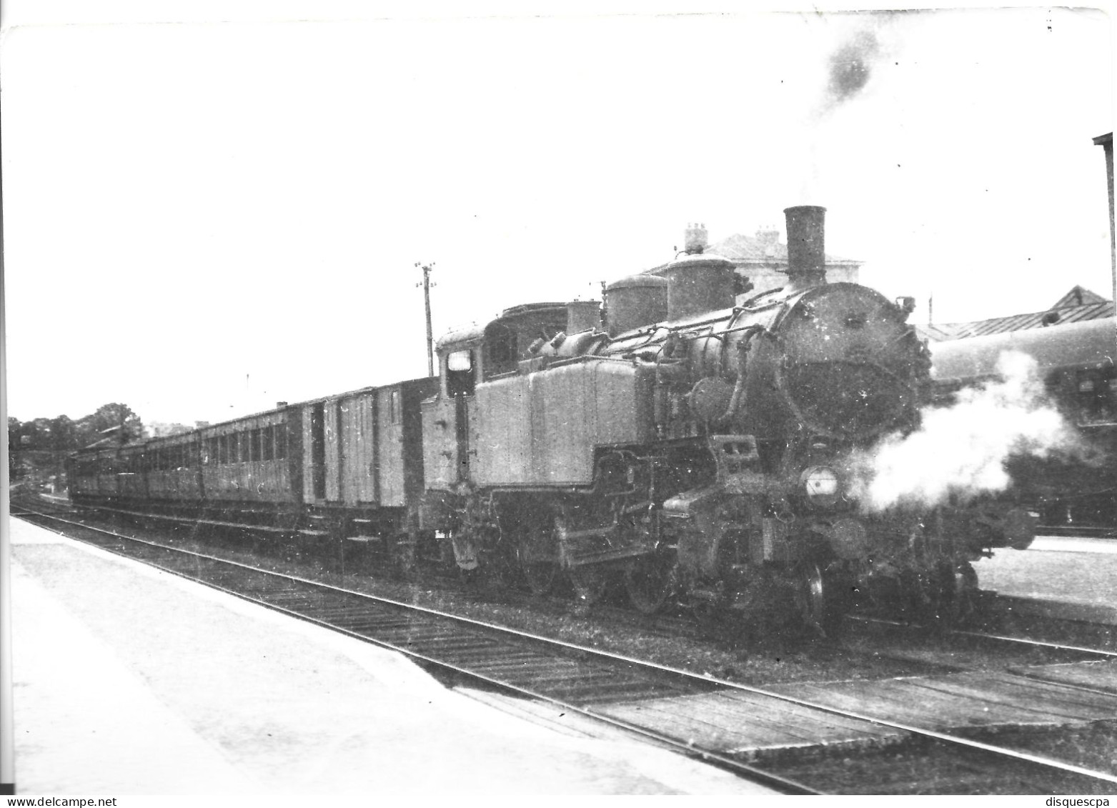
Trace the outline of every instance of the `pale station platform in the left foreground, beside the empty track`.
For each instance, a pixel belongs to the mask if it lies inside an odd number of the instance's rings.
[[[10,537],[18,793],[773,793],[21,520]]]

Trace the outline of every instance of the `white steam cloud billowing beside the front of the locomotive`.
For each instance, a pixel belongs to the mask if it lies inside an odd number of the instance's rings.
[[[1083,444],[1048,401],[1035,362],[1020,353],[997,360],[1003,381],[963,388],[955,404],[929,408],[908,435],[889,435],[850,459],[851,493],[867,510],[934,507],[1009,488],[1013,455],[1082,456]]]

